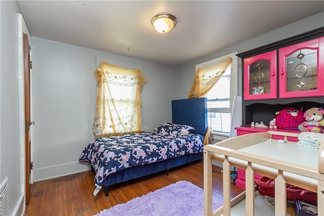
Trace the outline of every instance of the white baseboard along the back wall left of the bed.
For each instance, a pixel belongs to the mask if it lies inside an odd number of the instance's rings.
[[[67,176],[90,169],[90,165],[85,165],[78,161],[34,169],[34,182]]]

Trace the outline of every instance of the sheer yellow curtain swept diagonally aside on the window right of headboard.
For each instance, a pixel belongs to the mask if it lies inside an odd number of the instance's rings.
[[[201,98],[214,87],[217,81],[232,63],[232,58],[225,58],[215,66],[197,69],[188,98]]]

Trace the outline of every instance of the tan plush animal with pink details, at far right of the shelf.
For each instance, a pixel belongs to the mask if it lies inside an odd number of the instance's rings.
[[[306,121],[298,125],[299,131],[310,131],[313,133],[322,133],[324,127],[324,110],[322,108],[313,107],[306,110],[304,114]]]

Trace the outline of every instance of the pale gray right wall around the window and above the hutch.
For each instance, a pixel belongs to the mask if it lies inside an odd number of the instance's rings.
[[[177,75],[178,75],[178,87],[177,92],[178,98],[184,98],[187,97],[188,92],[190,90],[191,85],[188,83],[192,83],[192,80],[195,75],[195,65],[200,64],[203,62],[207,62],[212,59],[216,59],[225,55],[228,55],[230,53],[238,52],[242,53],[248,50],[252,50],[254,48],[258,48],[267,44],[271,44],[272,42],[285,39],[297,34],[301,34],[319,27],[324,26],[324,12],[318,13],[316,15],[313,15],[311,17],[308,17],[306,19],[300,20],[298,22],[292,23],[290,25],[275,29],[273,31],[270,31],[268,33],[262,34],[260,36],[251,38],[249,40],[246,40],[244,42],[240,42],[239,44],[236,44],[234,46],[225,48],[219,52],[215,52],[211,55],[202,57],[200,59],[196,59],[194,61],[191,61],[187,64],[184,64],[182,66],[179,66],[177,69]],[[233,33],[239,33],[239,32],[233,32]],[[215,41],[215,44],[218,41]],[[238,72],[238,96],[242,95],[242,77],[241,77],[241,59],[238,58],[237,61],[237,72]]]

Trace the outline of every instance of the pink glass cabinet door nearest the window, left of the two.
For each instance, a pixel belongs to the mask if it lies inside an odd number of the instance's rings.
[[[277,98],[276,51],[244,60],[244,100]]]

